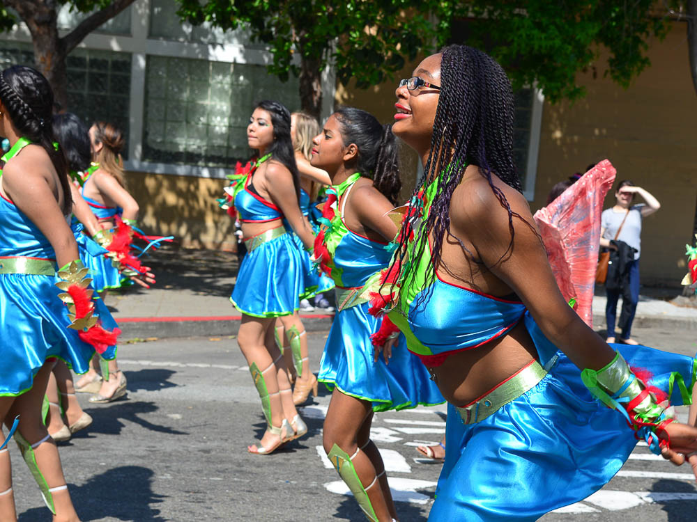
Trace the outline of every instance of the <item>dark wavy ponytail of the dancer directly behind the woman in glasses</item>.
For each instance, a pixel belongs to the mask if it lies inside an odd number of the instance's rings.
[[[373,180],[392,205],[397,205],[401,189],[399,147],[391,125],[381,125],[371,113],[355,107],[342,107],[334,113],[342,127],[344,145],[358,147],[356,171]]]

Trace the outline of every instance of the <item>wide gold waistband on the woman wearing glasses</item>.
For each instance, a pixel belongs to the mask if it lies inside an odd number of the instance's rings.
[[[487,395],[471,402],[467,406],[457,406],[457,411],[464,424],[475,424],[496,413],[501,406],[505,406],[512,400],[517,399],[523,393],[535,387],[539,381],[547,374],[546,370],[533,361],[512,377],[500,383]]]

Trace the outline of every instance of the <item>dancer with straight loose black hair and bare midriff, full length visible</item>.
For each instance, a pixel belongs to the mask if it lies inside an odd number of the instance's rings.
[[[298,207],[300,187],[288,109],[279,102],[259,102],[247,126],[247,143],[259,152],[259,159],[234,193],[247,255],[230,300],[243,313],[238,342],[267,424],[259,446],[247,450],[269,454],[307,433],[293,404],[288,372],[274,337],[275,318],[298,310],[302,279],[300,251],[283,219],[305,248],[312,246],[313,236]]]

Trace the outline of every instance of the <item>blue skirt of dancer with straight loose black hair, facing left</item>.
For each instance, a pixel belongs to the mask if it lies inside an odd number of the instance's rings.
[[[291,315],[300,308],[302,258],[289,233],[247,252],[230,301],[252,317]]]

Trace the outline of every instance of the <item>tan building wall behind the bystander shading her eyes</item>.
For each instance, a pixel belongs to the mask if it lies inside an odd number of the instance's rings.
[[[642,283],[677,286],[687,273],[685,244],[697,203],[697,93],[685,24],[674,24],[663,42],[653,42],[648,56],[652,65],[627,90],[604,78],[603,70],[589,70],[579,75],[588,89],[583,100],[544,104],[530,206],[542,207],[556,182],[609,159],[618,181],[629,179],[661,202],[643,223]],[[615,187],[605,208],[615,203]]]

